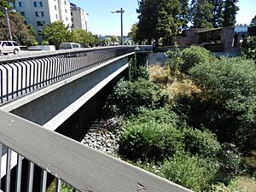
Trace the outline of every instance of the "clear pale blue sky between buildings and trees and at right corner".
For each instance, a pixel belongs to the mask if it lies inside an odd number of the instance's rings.
[[[124,35],[131,30],[131,25],[137,22],[137,0],[70,0],[89,13],[90,32],[99,35],[120,35],[120,14],[111,11],[123,8]],[[256,15],[256,0],[239,0],[240,8],[237,24],[249,24]]]

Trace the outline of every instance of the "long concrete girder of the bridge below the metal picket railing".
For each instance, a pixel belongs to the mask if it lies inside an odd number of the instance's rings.
[[[92,96],[128,67],[128,57],[119,56],[68,79],[50,84],[3,105],[1,109],[55,131]]]

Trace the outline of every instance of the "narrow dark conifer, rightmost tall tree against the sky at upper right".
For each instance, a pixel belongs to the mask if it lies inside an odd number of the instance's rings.
[[[224,21],[222,26],[235,26],[236,14],[239,10],[236,5],[238,0],[225,0],[224,2]]]

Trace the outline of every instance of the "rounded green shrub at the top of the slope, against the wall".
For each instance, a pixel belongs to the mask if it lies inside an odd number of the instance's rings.
[[[190,68],[195,67],[199,63],[214,60],[209,50],[197,46],[183,49],[181,57],[183,61],[180,63],[179,70],[182,73],[188,73]]]

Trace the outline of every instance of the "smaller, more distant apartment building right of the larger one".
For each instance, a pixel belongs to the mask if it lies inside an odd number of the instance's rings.
[[[74,3],[70,3],[70,9],[73,28],[83,29],[89,32],[89,14]]]

